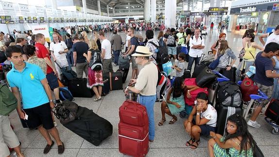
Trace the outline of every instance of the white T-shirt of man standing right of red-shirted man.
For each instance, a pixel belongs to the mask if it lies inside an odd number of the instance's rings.
[[[65,49],[67,49],[67,46],[64,41],[60,41],[56,44],[51,42],[49,46],[49,51],[53,51],[55,58],[60,61],[67,60],[66,53],[59,54],[60,51],[65,51]]]

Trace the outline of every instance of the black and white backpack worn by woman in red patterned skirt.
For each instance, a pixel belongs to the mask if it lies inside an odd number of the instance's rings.
[[[102,59],[101,59],[101,52],[99,50],[92,50],[90,49],[89,51],[92,52],[92,56],[89,62],[89,67],[92,70],[102,70],[103,65],[102,65]]]

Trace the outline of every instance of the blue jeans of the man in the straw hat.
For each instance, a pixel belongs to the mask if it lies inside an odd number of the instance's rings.
[[[140,95],[138,97],[139,103],[141,105],[144,105],[147,109],[147,115],[148,115],[148,124],[149,124],[149,140],[154,140],[155,137],[155,120],[154,120],[154,105],[156,101],[156,95],[152,96],[143,96]]]

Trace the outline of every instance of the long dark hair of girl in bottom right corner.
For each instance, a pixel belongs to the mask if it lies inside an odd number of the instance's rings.
[[[242,137],[242,140],[240,142],[239,154],[241,154],[241,152],[244,150],[245,156],[247,156],[247,151],[248,151],[247,143],[250,145],[253,151],[254,151],[254,145],[253,145],[253,136],[248,131],[248,126],[245,119],[241,115],[235,113],[230,117],[228,117],[228,121],[235,123],[237,129],[236,129],[236,133],[229,134],[226,127],[225,130],[226,135],[225,135],[224,142],[232,138],[237,138],[239,136]],[[226,152],[227,154],[229,154],[229,148],[226,149]]]

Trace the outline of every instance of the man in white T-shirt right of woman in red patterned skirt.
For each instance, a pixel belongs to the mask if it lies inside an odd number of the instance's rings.
[[[105,33],[103,31],[99,32],[99,38],[102,40],[101,44],[101,58],[103,61],[103,74],[108,72],[114,72],[113,65],[112,65],[112,44],[111,42],[106,39]]]

